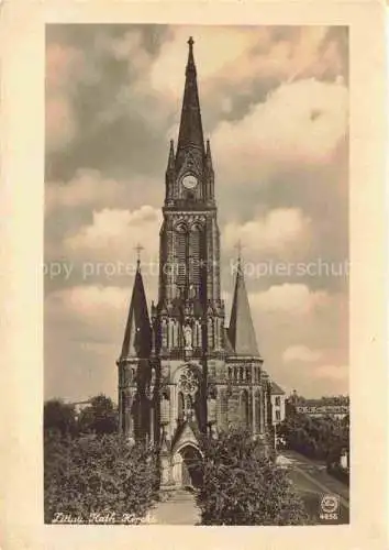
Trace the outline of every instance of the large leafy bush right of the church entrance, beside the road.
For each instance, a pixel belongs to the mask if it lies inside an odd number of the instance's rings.
[[[249,433],[221,433],[203,447],[202,525],[304,525],[309,517],[287,472]]]

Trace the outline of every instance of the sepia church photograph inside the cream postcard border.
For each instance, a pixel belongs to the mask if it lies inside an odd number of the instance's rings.
[[[45,524],[349,524],[348,52],[46,25]]]

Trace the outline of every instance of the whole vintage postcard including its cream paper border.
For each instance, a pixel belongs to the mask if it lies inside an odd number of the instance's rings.
[[[8,480],[4,549],[385,548],[384,8],[199,8],[35,10],[42,118],[4,166],[42,176],[40,509]]]

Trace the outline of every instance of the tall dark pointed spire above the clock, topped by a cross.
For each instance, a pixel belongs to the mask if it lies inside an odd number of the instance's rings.
[[[182,100],[181,120],[178,134],[177,155],[189,146],[204,152],[204,139],[200,112],[197,72],[193,57],[193,38],[188,40],[189,54],[186,68],[185,91]]]

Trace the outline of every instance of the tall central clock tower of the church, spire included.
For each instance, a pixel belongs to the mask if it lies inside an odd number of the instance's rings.
[[[169,407],[162,429],[175,447],[189,432],[196,439],[215,422],[208,398],[224,358],[214,174],[210,142],[203,140],[192,38],[188,44],[177,148],[171,141],[166,169],[159,296],[152,308],[155,354]]]

